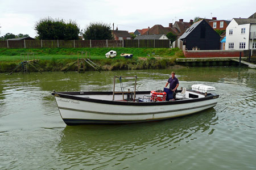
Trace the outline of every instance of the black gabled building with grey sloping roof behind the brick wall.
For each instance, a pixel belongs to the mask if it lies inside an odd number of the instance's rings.
[[[220,49],[220,36],[206,20],[200,20],[187,29],[179,40],[187,50],[218,50]]]

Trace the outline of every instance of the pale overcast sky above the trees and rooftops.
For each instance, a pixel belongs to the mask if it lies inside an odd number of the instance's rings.
[[[168,27],[179,19],[189,22],[196,16],[231,20],[248,18],[254,12],[255,0],[0,0],[0,36],[22,33],[35,37],[35,23],[48,16],[74,20],[80,29],[91,22],[103,22],[134,32],[155,24]]]

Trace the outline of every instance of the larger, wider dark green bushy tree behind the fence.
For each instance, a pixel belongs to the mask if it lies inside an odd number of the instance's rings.
[[[63,19],[44,18],[35,23],[36,39],[41,40],[78,40],[79,31],[77,23]]]

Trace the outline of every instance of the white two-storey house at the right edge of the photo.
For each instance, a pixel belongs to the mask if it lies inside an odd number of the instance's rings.
[[[225,49],[256,49],[256,19],[233,18],[226,27]]]

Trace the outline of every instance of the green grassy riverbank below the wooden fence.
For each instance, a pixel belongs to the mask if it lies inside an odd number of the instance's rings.
[[[115,50],[117,57],[106,58],[105,53]],[[27,60],[20,58],[20,53],[38,53],[40,71],[64,71],[77,60],[77,52],[90,52],[90,58],[103,70],[131,70],[131,69],[164,69],[175,64],[176,58],[184,57],[179,49],[169,48],[54,48],[54,49],[0,49],[0,72],[13,70],[20,62]],[[133,53],[134,57],[126,59],[121,53]],[[80,56],[81,57],[81,56]],[[30,59],[30,58],[29,58]],[[86,64],[86,70],[93,70]],[[18,69],[17,71],[19,71]],[[73,65],[69,70],[77,70]],[[30,71],[36,71],[30,67]]]

